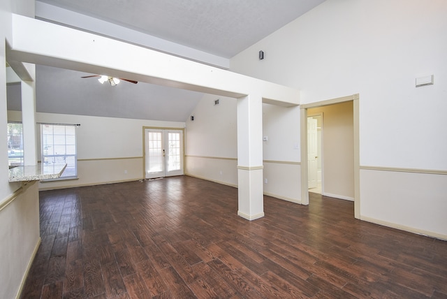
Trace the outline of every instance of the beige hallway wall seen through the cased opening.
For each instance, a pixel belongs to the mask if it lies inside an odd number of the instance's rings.
[[[323,195],[354,200],[353,102],[308,109],[323,113]]]

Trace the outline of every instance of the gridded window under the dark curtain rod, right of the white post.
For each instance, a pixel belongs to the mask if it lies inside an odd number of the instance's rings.
[[[41,124],[42,164],[67,164],[57,180],[78,177],[76,154],[76,126]]]

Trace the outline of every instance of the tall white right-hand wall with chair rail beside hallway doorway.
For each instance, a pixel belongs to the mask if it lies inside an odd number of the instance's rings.
[[[404,211],[407,230],[441,238],[445,209],[432,196],[418,197],[428,209],[420,216],[405,195],[423,194],[424,186],[407,184],[397,170],[447,184],[447,138],[440,138],[447,127],[446,15],[444,0],[328,0],[230,61],[232,71],[300,89],[301,103],[360,94],[360,217],[374,221],[376,211],[390,209],[380,220],[397,227]],[[418,76],[431,74],[434,85],[415,87]],[[365,175],[378,171],[368,166],[393,168],[400,187],[382,192],[376,176]],[[376,200],[374,192],[387,195]]]

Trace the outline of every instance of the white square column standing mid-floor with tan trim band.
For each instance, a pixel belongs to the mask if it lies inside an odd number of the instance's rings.
[[[237,214],[248,220],[264,217],[262,117],[261,96],[237,99]]]

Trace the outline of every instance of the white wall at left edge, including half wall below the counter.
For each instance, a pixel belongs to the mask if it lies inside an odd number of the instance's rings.
[[[34,17],[34,0],[0,1],[0,126],[6,128],[6,53],[11,12]],[[8,182],[6,130],[0,130],[0,298],[15,298],[39,244],[38,189]]]

